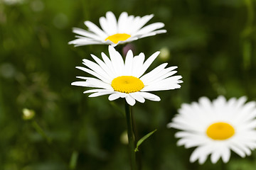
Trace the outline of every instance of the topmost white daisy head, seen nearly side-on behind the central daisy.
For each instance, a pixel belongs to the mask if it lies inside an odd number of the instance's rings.
[[[73,33],[78,34],[75,36],[78,39],[68,43],[75,45],[75,47],[94,44],[116,46],[139,38],[166,33],[166,30],[159,30],[164,27],[164,23],[151,23],[143,27],[153,16],[151,14],[143,17],[134,17],[128,16],[127,12],[122,12],[117,21],[114,13],[108,11],[106,17],[100,17],[102,29],[90,21],[85,21],[85,26],[89,30],[73,28]]]

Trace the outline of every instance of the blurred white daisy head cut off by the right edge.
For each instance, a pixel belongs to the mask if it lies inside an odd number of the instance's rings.
[[[198,103],[183,104],[172,123],[167,126],[182,130],[176,133],[178,145],[196,147],[190,157],[200,164],[208,155],[215,164],[220,157],[223,162],[230,159],[231,150],[240,157],[251,154],[256,148],[256,102],[245,103],[247,98],[219,96],[213,102],[201,97]]]

